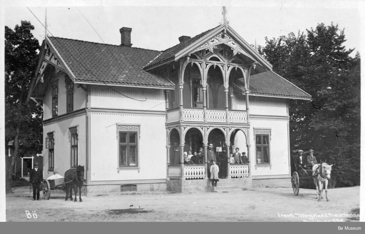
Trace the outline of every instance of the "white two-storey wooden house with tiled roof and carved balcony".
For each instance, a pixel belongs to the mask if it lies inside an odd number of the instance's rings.
[[[131,30],[119,46],[43,41],[30,95],[43,99],[45,177],[85,165],[87,192],[205,191],[207,164],[183,152],[226,143],[249,164],[228,163],[225,180],[291,186],[288,100],[308,93],[227,24],[165,51],[132,47]]]

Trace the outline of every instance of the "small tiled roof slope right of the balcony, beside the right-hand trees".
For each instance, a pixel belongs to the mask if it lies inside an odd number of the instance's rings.
[[[246,90],[242,81],[238,81],[235,84],[242,91]],[[306,92],[289,83],[289,81],[285,80],[283,77],[277,75],[273,71],[251,75],[250,93],[311,98],[311,96]]]

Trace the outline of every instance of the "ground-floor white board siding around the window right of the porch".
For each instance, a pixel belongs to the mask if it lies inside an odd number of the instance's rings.
[[[270,139],[270,167],[257,167],[256,164],[256,142],[254,140],[253,128],[271,128]],[[251,175],[287,175],[288,174],[288,123],[287,120],[251,119]]]

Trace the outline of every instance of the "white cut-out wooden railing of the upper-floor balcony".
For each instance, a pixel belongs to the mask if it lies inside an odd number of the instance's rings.
[[[229,110],[227,116],[226,110],[207,109],[204,112],[204,109],[200,108],[184,108],[182,113],[179,108],[168,110],[166,123],[178,122],[180,119],[187,122],[204,122],[204,116],[207,122],[247,123],[247,111]]]

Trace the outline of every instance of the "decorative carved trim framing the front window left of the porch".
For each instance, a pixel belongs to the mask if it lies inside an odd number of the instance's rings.
[[[135,166],[120,166],[120,149],[119,149],[119,133],[120,132],[136,132],[137,133],[137,160],[136,160],[136,164]],[[119,173],[120,170],[138,170],[138,173],[140,171],[140,161],[139,161],[139,156],[140,156],[140,151],[139,151],[139,139],[141,138],[141,124],[138,123],[131,123],[131,124],[126,124],[126,123],[116,123],[116,139],[117,139],[117,152],[118,152],[118,166],[117,166],[117,172]]]

